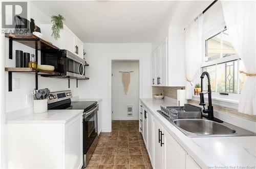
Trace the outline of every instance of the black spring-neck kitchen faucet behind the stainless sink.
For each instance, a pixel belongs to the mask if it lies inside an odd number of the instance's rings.
[[[204,94],[206,93],[203,93],[203,79],[204,79],[204,76],[206,75],[207,77],[207,81],[208,81],[208,109],[205,109],[205,103],[204,103]],[[207,71],[204,71],[201,75],[201,92],[200,92],[200,104],[201,106],[203,106],[203,113],[204,114],[208,114],[208,115],[204,115],[203,114],[203,117],[209,119],[209,120],[212,120],[212,121],[215,121],[215,122],[218,122],[218,123],[223,123],[222,120],[220,120],[219,118],[216,118],[214,117],[214,107],[212,106],[212,103],[211,103],[211,89],[210,89],[210,75]]]

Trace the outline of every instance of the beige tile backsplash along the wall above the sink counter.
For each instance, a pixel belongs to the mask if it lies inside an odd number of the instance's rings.
[[[152,94],[160,94],[162,93],[163,95],[169,97],[169,98],[173,98],[173,99],[177,99],[177,90],[178,89],[185,89],[184,86],[176,86],[176,87],[163,87],[163,86],[152,86]],[[189,104],[193,104],[193,105],[199,105],[199,101],[195,101],[195,100],[188,100]],[[240,113],[238,112],[238,110],[236,109],[231,109],[228,107],[224,107],[224,106],[218,106],[218,105],[213,105],[214,109],[223,113],[227,113],[227,114],[232,114],[232,115],[236,115],[239,116],[241,118],[246,118],[246,119],[250,119],[254,122],[256,122],[256,115],[249,115],[249,114],[244,114],[244,113]]]

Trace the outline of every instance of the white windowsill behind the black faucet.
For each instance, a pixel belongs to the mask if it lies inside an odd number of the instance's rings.
[[[200,101],[200,95],[193,95],[192,100]],[[231,109],[238,109],[239,100],[238,99],[228,99],[228,98],[217,98],[215,96],[211,97],[212,104],[228,107]],[[208,103],[208,96],[207,94],[204,95],[205,103]]]

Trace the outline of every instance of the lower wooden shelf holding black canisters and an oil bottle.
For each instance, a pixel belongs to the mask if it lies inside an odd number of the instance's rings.
[[[5,71],[31,73],[31,74],[37,73],[38,75],[58,75],[59,74],[55,71],[41,70],[38,68],[29,68],[29,67],[5,67]]]

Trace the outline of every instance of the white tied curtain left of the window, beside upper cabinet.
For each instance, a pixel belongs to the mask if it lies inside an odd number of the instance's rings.
[[[203,15],[185,28],[186,99],[192,99],[193,78],[202,63]]]

